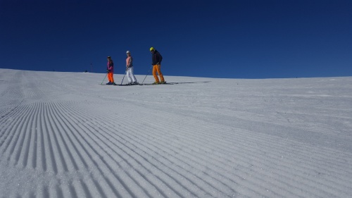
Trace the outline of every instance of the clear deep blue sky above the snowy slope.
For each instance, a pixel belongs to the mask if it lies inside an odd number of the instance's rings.
[[[130,50],[146,75],[150,47],[166,76],[352,76],[352,1],[0,0],[0,68],[124,73]]]

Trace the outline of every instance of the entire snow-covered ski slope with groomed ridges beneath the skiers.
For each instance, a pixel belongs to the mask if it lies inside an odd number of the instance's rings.
[[[352,197],[352,78],[104,76],[0,69],[0,197]]]

